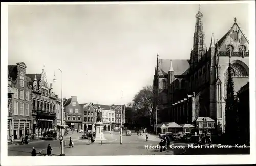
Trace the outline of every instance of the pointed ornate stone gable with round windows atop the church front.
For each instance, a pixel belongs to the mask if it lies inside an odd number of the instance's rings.
[[[249,42],[234,19],[231,29],[218,42],[220,56],[249,56]]]

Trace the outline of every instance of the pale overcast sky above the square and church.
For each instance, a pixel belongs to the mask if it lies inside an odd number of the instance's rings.
[[[247,4],[202,4],[206,47],[220,39],[237,17],[249,37]],[[156,55],[189,59],[197,4],[9,5],[8,65],[24,62],[27,73],[48,82],[63,71],[63,97],[79,103],[127,104],[153,84]],[[56,94],[61,73],[55,71]]]

